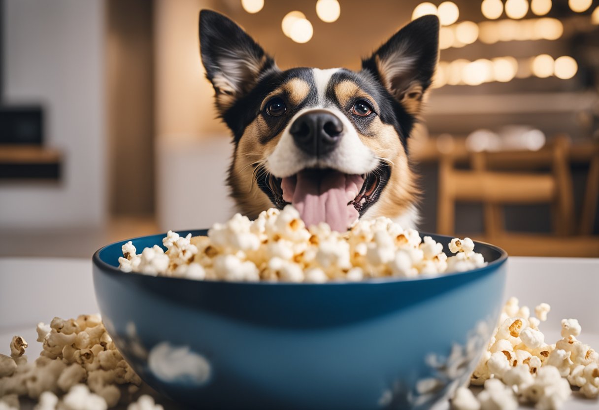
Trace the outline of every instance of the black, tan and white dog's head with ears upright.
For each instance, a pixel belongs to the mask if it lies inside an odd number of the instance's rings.
[[[199,35],[217,109],[234,135],[228,182],[240,212],[254,218],[292,203],[307,225],[345,230],[380,215],[410,224],[417,189],[407,138],[437,64],[437,17],[409,23],[358,72],[282,71],[214,11],[201,11]]]

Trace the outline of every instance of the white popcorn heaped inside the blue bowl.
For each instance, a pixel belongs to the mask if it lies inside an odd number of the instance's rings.
[[[123,272],[209,281],[282,281],[322,283],[361,281],[383,276],[463,272],[486,265],[474,242],[453,239],[455,255],[417,231],[404,230],[389,218],[359,220],[347,233],[321,223],[306,228],[291,205],[269,209],[255,221],[237,214],[214,224],[208,236],[180,237],[169,231],[158,245],[137,249],[123,245]]]

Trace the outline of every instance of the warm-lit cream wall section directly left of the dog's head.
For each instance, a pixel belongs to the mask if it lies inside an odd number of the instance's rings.
[[[232,215],[233,146],[216,118],[199,57],[198,17],[211,0],[155,0],[156,212],[162,230],[207,228]]]

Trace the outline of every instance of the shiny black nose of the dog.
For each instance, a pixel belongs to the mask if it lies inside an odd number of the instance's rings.
[[[328,111],[309,111],[289,129],[295,144],[308,155],[323,156],[335,149],[343,137],[343,123]]]

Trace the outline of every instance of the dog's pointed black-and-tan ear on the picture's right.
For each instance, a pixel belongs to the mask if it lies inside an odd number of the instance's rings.
[[[362,61],[389,93],[413,115],[420,112],[438,60],[439,20],[423,16],[414,20]]]

